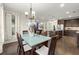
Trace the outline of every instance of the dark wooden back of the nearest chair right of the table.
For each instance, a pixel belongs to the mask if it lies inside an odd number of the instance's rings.
[[[55,48],[56,48],[57,40],[58,40],[58,35],[53,36],[51,38],[50,45],[49,45],[48,55],[54,55],[55,54]]]

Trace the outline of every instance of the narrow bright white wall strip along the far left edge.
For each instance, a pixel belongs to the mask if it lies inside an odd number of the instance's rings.
[[[4,43],[4,8],[3,4],[0,4],[0,53],[3,52]]]

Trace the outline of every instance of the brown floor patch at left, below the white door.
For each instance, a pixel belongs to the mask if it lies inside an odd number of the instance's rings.
[[[4,44],[3,46],[3,55],[17,55],[17,42]]]

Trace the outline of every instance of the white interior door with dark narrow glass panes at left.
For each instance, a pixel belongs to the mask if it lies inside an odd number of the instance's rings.
[[[5,17],[5,27],[6,27],[6,39],[5,42],[6,43],[11,43],[16,41],[16,16],[14,14],[7,14],[6,13],[6,17]]]

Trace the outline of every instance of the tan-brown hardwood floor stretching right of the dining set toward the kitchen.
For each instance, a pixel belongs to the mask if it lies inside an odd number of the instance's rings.
[[[57,42],[56,55],[79,55],[79,49],[77,48],[77,40],[74,37],[63,36]]]

